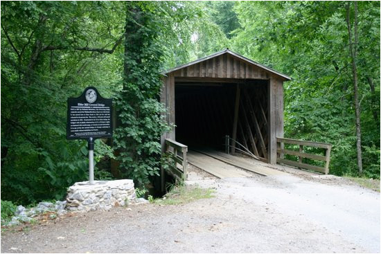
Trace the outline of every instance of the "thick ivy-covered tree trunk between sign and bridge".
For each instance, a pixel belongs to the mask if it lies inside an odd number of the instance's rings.
[[[163,20],[168,19],[167,13],[174,7],[170,3],[142,2],[126,6],[123,89],[116,96],[120,125],[114,137],[119,168],[138,186],[158,174],[159,138],[169,129],[163,120],[165,109],[158,101],[164,57],[160,38],[168,30]]]

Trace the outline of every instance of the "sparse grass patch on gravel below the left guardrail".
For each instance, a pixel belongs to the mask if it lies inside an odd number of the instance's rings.
[[[209,199],[213,196],[214,190],[200,188],[197,185],[174,185],[170,192],[164,195],[162,199],[152,199],[151,203],[161,205],[179,205],[181,203],[190,203],[197,199]]]

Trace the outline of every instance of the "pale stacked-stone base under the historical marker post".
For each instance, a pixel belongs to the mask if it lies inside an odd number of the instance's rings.
[[[87,212],[109,210],[125,206],[136,199],[134,182],[130,179],[115,181],[88,181],[74,183],[67,192],[66,210]]]

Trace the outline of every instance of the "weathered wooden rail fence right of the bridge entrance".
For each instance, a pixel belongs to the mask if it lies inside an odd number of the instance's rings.
[[[276,143],[278,143],[278,149],[276,149],[276,153],[277,153],[276,163],[283,163],[285,165],[300,167],[300,168],[304,168],[306,170],[314,170],[314,171],[322,172],[324,174],[329,173],[328,166],[330,164],[330,149],[332,148],[331,144],[296,140],[296,139],[291,139],[291,138],[276,138]],[[293,151],[290,149],[284,149],[285,143],[286,144],[292,144],[292,145],[299,145],[299,152]],[[322,155],[308,154],[306,152],[303,152],[304,146],[319,147],[319,148],[326,149],[325,155],[322,156]],[[298,161],[287,160],[284,158],[284,154],[297,156]],[[303,158],[310,158],[312,160],[324,161],[325,162],[324,167],[319,167],[317,165],[310,165],[307,163],[303,163]]]

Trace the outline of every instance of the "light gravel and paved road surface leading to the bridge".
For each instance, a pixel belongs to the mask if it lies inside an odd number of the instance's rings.
[[[8,229],[2,253],[380,253],[380,193],[335,176],[215,179],[212,198],[69,214]]]

